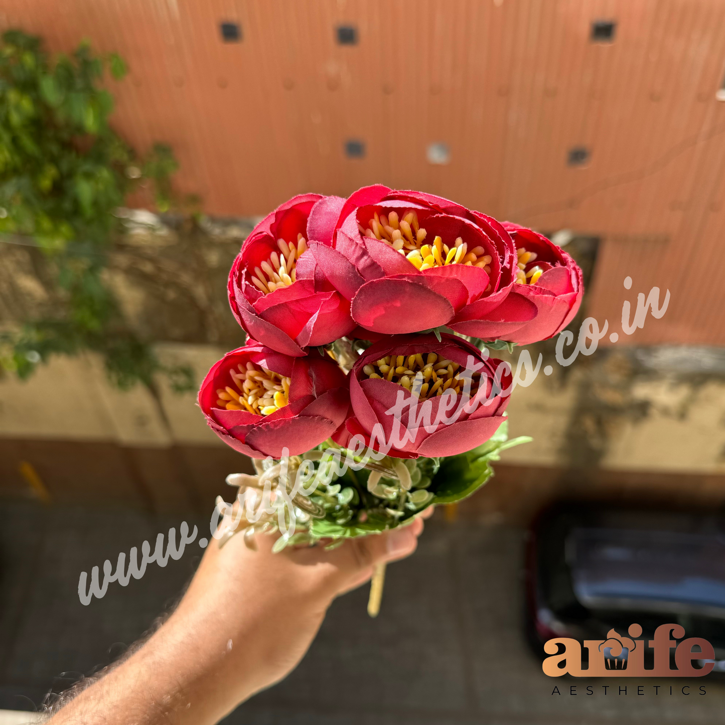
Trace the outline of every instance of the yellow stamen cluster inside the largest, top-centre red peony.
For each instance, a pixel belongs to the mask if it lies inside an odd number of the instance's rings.
[[[397,212],[390,212],[387,216],[378,216],[378,212],[375,212],[367,229],[362,224],[358,224],[357,228],[371,239],[384,241],[421,271],[446,265],[468,265],[481,267],[486,273],[491,272],[491,255],[486,254],[483,247],[468,249],[468,244],[460,236],[450,247],[443,244],[439,236],[432,244],[426,244],[428,232],[418,225],[418,214],[415,211],[405,212],[402,219]]]

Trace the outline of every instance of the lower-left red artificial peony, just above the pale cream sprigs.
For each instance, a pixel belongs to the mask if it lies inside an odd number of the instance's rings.
[[[291,357],[248,341],[207,373],[199,407],[212,431],[241,453],[279,458],[286,447],[299,455],[345,420],[347,378],[317,350]]]

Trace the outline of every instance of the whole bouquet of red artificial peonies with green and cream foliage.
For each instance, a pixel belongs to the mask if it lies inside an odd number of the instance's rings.
[[[257,471],[228,477],[220,543],[334,546],[473,493],[530,440],[508,440],[511,369],[489,348],[558,334],[583,291],[546,237],[439,196],[376,185],[282,204],[231,268],[247,344],[199,391]]]

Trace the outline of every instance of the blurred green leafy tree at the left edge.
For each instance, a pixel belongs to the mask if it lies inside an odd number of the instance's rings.
[[[125,62],[94,56],[87,42],[51,58],[40,38],[21,30],[1,37],[0,241],[43,250],[61,304],[2,333],[0,365],[27,378],[52,355],[91,350],[121,388],[141,382],[155,393],[162,373],[174,389],[188,390],[191,369],[159,361],[129,328],[102,274],[120,230],[114,210],[143,178],[154,185],[158,210],[169,210],[178,167],[169,146],[138,158],[109,127],[106,70],[120,80]]]

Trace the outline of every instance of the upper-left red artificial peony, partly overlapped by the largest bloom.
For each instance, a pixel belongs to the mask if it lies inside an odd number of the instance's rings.
[[[229,304],[253,339],[301,357],[355,327],[349,301],[307,251],[307,218],[326,197],[302,194],[282,204],[244,241],[229,273]],[[336,197],[334,197],[336,199]]]

